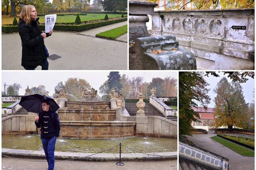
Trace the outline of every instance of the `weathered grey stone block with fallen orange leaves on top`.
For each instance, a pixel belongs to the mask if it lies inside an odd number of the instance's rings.
[[[178,46],[173,35],[137,38],[129,48],[129,69],[196,70],[194,55]]]

